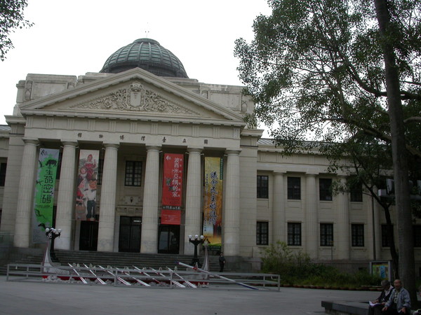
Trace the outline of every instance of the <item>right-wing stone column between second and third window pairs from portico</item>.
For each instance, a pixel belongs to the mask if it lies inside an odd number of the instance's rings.
[[[305,251],[312,259],[319,257],[319,202],[316,187],[316,174],[306,174]]]

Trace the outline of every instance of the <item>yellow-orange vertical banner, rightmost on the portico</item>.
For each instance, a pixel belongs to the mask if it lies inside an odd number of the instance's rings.
[[[205,158],[203,236],[210,251],[220,251],[222,245],[222,170],[222,158]]]

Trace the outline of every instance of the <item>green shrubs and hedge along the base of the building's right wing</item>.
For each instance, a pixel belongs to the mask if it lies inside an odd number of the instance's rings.
[[[332,266],[311,262],[309,255],[302,251],[291,251],[288,246],[277,241],[263,250],[262,271],[281,276],[281,283],[312,286],[378,286],[381,279],[368,272],[347,274]]]

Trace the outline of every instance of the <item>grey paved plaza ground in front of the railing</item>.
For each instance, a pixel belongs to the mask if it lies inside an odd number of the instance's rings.
[[[114,287],[100,284],[6,281],[0,276],[0,314],[324,314],[322,300],[368,301],[377,292],[242,286]]]

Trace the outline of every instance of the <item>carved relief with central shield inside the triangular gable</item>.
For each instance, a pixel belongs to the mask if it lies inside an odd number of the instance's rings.
[[[174,102],[164,99],[152,90],[147,90],[140,81],[131,83],[110,94],[76,104],[73,109],[98,109],[101,111],[138,111],[148,113],[174,113],[187,116],[199,116],[190,109],[185,109]]]

